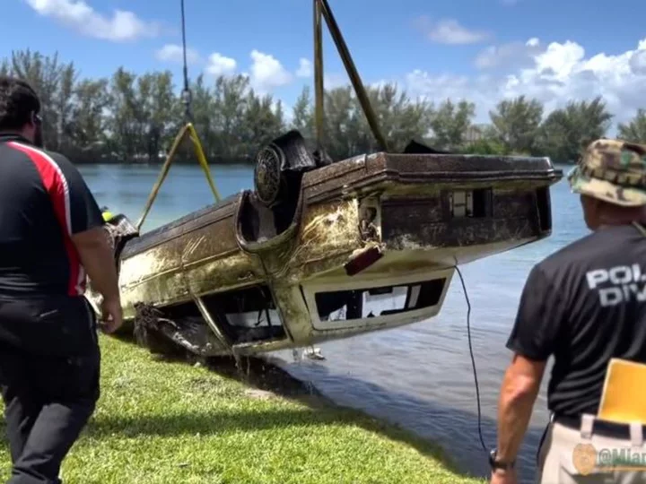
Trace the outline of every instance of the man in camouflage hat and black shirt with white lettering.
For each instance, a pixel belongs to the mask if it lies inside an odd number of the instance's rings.
[[[550,356],[552,419],[537,482],[646,482],[646,471],[595,468],[604,463],[603,449],[646,456],[640,422],[598,418],[610,359],[646,363],[646,146],[598,140],[568,178],[592,233],[528,275],[507,343],[514,355],[502,382],[498,447],[490,455],[493,484],[517,482],[514,462]],[[631,391],[619,396],[630,399]]]

